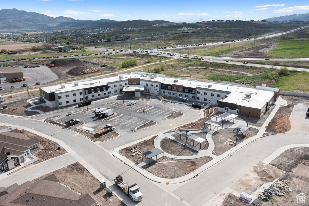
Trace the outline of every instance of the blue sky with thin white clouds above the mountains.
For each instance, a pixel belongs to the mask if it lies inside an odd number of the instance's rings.
[[[15,0],[2,1],[0,9],[16,8],[52,17],[73,19],[166,20],[199,22],[200,19],[262,20],[276,16],[305,14],[309,2],[299,1],[182,1],[182,0]]]

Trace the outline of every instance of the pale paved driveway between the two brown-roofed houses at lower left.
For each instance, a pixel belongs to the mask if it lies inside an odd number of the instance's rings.
[[[75,162],[77,162],[76,159],[69,153],[66,153],[48,161],[40,162],[37,165],[29,166],[22,171],[10,174],[7,178],[0,180],[0,187],[8,187],[15,183],[20,185]]]

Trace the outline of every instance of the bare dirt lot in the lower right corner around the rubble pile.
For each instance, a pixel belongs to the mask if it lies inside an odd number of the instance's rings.
[[[260,205],[272,206],[290,206],[290,205],[309,205],[309,201],[306,198],[305,204],[298,204],[296,196],[299,193],[305,193],[306,196],[309,193],[309,148],[297,147],[284,151],[276,159],[270,162],[270,165],[274,165],[281,170],[287,171],[284,179],[289,183],[292,191],[287,192],[284,196],[273,195],[270,202],[262,202]]]

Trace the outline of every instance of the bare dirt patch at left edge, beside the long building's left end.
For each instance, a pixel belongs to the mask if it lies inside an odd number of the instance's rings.
[[[0,113],[23,116],[23,117],[39,114],[38,112],[31,112],[27,110],[28,107],[31,107],[31,104],[29,104],[27,100],[6,104],[6,106],[7,109],[0,109]]]

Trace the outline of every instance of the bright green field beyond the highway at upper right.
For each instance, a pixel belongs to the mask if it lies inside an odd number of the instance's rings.
[[[282,41],[277,49],[268,52],[269,56],[275,57],[308,57],[309,41]]]

